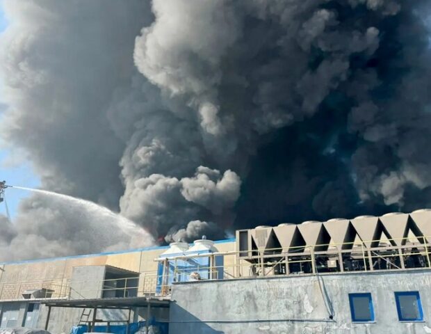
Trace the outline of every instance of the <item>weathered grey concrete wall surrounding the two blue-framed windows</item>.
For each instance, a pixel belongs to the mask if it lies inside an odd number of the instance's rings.
[[[181,283],[172,292],[170,333],[431,333],[430,273],[398,271]],[[425,322],[398,321],[396,291],[420,292]],[[348,294],[355,292],[371,292],[375,323],[352,323]],[[328,308],[333,309],[333,320]]]

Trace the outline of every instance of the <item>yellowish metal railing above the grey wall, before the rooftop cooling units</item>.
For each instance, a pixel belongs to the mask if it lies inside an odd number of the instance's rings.
[[[268,276],[317,275],[325,273],[358,273],[406,269],[431,269],[429,237],[384,239],[342,244],[316,244],[288,248],[261,248],[225,253],[181,255],[156,259],[169,264],[163,281],[181,283],[192,273],[205,273],[199,280],[230,280]],[[367,246],[368,245],[368,246]],[[374,245],[374,246],[370,246]],[[400,246],[398,246],[400,245]],[[224,264],[215,266],[215,257]],[[208,266],[184,266],[184,261],[208,257]],[[220,275],[220,273],[222,273]],[[170,279],[169,276],[172,276]],[[182,280],[189,281],[189,280]]]

